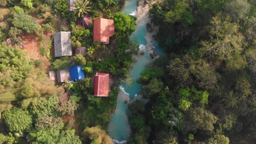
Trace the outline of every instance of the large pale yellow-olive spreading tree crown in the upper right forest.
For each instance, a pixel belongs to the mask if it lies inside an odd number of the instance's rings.
[[[232,61],[235,57],[240,57],[243,50],[243,35],[238,31],[237,23],[228,20],[221,20],[213,17],[211,25],[208,27],[211,39],[202,41],[203,55],[211,59]],[[242,60],[242,59],[241,59]],[[229,67],[229,69],[243,68],[241,66]],[[232,65],[230,65],[232,66]]]

